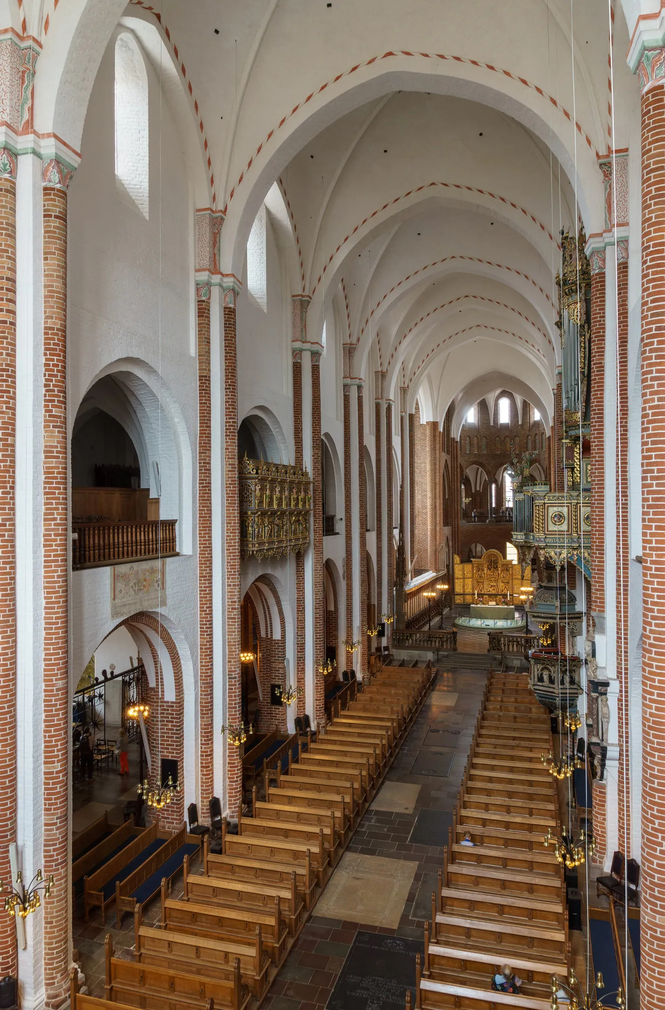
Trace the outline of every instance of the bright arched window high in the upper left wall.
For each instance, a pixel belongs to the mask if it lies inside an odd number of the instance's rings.
[[[115,178],[147,220],[147,74],[136,40],[126,31],[115,43]]]

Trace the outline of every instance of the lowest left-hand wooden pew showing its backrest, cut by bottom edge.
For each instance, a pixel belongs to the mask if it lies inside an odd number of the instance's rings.
[[[199,1010],[214,1006],[221,1010],[244,1010],[250,999],[240,978],[240,960],[233,963],[233,978],[206,979],[185,972],[113,956],[113,938],[105,942],[105,996],[112,1006],[126,1003],[144,1010]]]

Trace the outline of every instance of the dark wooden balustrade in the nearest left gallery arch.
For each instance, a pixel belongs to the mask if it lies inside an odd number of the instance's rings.
[[[98,568],[178,553],[178,519],[72,524],[72,568]]]

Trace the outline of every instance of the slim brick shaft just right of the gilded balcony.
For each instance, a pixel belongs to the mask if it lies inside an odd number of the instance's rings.
[[[325,628],[323,623],[323,500],[321,494],[321,352],[311,351],[312,358],[312,511],[314,513],[314,718],[325,721],[325,680],[317,667],[325,653]]]

